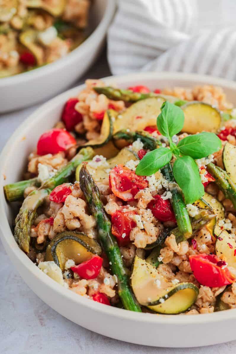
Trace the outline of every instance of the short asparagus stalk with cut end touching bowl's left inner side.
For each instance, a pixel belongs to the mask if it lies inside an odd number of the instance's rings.
[[[3,188],[7,201],[16,201],[23,198],[24,190],[27,187],[40,187],[40,185],[41,181],[36,177],[26,181],[6,184]]]

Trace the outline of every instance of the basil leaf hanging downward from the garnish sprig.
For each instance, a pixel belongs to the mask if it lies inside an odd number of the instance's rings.
[[[186,204],[192,204],[204,195],[204,187],[196,162],[190,156],[182,156],[174,162],[175,181],[184,193]]]

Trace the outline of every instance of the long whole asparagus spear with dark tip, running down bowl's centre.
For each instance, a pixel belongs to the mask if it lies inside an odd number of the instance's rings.
[[[111,233],[111,221],[101,202],[99,189],[85,165],[83,165],[80,170],[79,182],[85,200],[89,205],[90,212],[97,221],[99,239],[111,264],[112,273],[117,276],[118,294],[123,302],[124,308],[131,311],[141,312],[140,306],[130,290],[126,269],[120,255],[117,241]]]

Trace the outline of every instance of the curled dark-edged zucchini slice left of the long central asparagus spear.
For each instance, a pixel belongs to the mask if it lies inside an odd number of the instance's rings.
[[[101,253],[97,241],[80,232],[65,231],[47,246],[45,261],[54,261],[63,271],[67,259],[73,259],[75,264],[79,264]]]

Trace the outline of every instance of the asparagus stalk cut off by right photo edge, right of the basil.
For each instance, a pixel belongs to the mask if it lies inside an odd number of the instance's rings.
[[[207,165],[207,170],[215,178],[215,183],[224,193],[225,198],[230,199],[236,209],[236,186],[227,173],[212,162]]]

